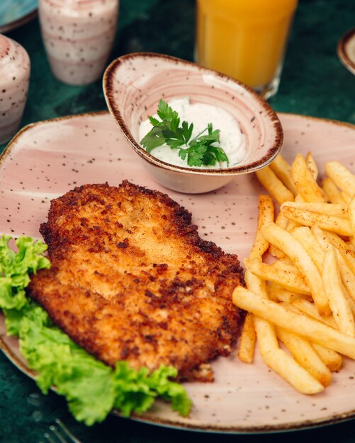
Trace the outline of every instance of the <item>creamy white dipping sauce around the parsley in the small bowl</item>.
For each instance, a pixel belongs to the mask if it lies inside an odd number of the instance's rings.
[[[193,168],[231,168],[237,166],[242,161],[245,155],[245,136],[242,134],[235,118],[232,117],[230,113],[217,106],[206,105],[205,103],[190,103],[188,97],[175,98],[169,101],[168,105],[179,114],[180,125],[184,120],[186,120],[188,124],[193,123],[191,140],[203,131],[208,123],[212,123],[213,130],[220,130],[220,144],[218,146],[225,151],[230,163],[220,161],[216,162],[215,166],[203,165],[199,167],[193,166]],[[159,119],[157,115],[154,115],[154,117]],[[142,122],[139,128],[139,139],[142,140],[151,129],[152,125],[148,119]],[[206,131],[202,135],[207,134],[208,132]],[[184,148],[184,146],[181,147]],[[191,167],[188,166],[186,159],[180,159],[179,149],[171,149],[167,144],[162,144],[162,146],[152,149],[150,154],[171,165]]]

